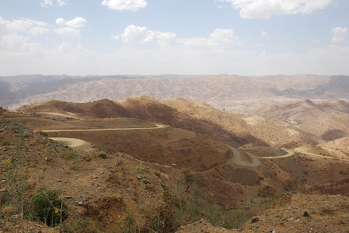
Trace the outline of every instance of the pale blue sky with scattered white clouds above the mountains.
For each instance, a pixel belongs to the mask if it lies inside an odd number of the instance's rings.
[[[349,75],[349,0],[0,0],[0,76]]]

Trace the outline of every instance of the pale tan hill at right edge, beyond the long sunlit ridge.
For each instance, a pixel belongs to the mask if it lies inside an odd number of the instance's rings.
[[[349,103],[343,100],[297,100],[253,112],[290,124],[325,141],[349,136]]]

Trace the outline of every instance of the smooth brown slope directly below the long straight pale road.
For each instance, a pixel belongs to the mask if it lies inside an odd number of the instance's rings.
[[[222,166],[229,149],[210,138],[172,127],[154,130],[56,132],[49,136],[79,138],[146,162],[202,171]]]

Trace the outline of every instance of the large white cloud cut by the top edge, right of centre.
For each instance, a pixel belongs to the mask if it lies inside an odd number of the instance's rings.
[[[334,0],[218,0],[240,9],[242,18],[270,18],[271,15],[312,14]]]

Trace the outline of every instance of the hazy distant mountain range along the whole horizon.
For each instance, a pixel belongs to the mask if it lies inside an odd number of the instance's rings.
[[[184,98],[241,115],[294,100],[349,100],[349,77],[319,75],[20,75],[0,77],[0,106],[55,99],[89,102],[146,95]]]

